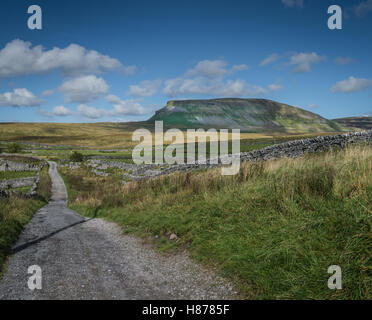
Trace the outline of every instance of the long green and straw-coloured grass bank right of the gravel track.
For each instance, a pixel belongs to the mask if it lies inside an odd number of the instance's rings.
[[[250,299],[372,299],[372,148],[173,174],[121,185],[61,169],[69,206],[232,279]],[[171,233],[179,241],[169,240]],[[329,290],[339,265],[342,290]]]

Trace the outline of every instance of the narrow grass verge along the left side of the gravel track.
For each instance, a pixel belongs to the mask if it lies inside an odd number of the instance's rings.
[[[21,189],[19,191],[22,191]],[[7,199],[0,199],[0,277],[11,246],[17,241],[23,227],[34,213],[48,203],[50,195],[51,180],[48,168],[44,167],[40,172],[37,197],[25,198],[20,193]]]

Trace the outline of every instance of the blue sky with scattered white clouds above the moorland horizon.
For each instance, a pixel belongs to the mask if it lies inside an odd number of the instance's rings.
[[[0,121],[141,121],[221,97],[372,115],[371,18],[372,0],[2,0]]]

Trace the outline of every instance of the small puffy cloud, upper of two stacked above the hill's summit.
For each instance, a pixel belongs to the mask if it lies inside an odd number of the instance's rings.
[[[185,76],[216,78],[248,69],[248,66],[245,64],[233,65],[230,68],[227,68],[227,65],[228,63],[224,60],[203,60],[198,62],[194,68],[188,70]]]

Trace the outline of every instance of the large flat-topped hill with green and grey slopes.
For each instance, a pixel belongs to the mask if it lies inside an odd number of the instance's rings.
[[[346,128],[315,113],[266,99],[169,101],[149,119],[181,128],[235,128],[245,132],[334,132]]]

